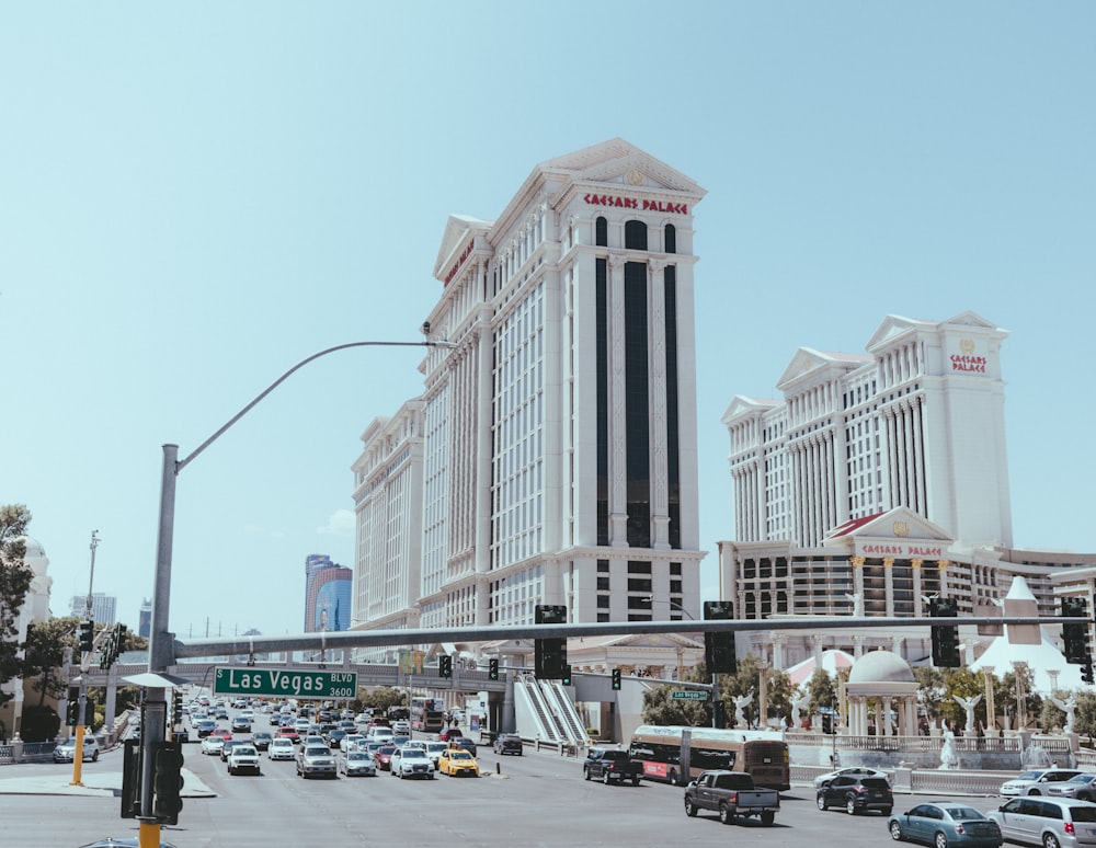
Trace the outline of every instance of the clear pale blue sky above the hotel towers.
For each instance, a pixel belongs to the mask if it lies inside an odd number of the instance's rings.
[[[695,180],[701,595],[737,394],[888,314],[1008,331],[1016,547],[1096,551],[1096,4],[0,4],[0,503],[52,608],[152,595],[162,445],[421,341],[447,217],[616,137]],[[178,479],[170,628],[300,632],[419,347],[302,368]]]

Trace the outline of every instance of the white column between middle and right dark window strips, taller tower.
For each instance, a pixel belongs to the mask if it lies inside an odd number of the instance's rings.
[[[651,334],[650,387],[651,404],[651,547],[670,550],[670,462],[666,446],[666,287],[664,260],[649,260],[647,290],[649,295],[648,326]]]

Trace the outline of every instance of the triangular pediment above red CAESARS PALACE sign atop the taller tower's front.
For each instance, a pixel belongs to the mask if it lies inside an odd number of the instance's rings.
[[[573,153],[549,159],[537,165],[537,169],[544,172],[564,173],[572,182],[669,190],[697,197],[706,194],[695,180],[623,138],[614,138]]]

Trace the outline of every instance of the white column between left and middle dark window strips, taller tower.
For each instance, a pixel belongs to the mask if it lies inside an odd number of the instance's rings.
[[[625,386],[625,257],[609,254],[609,545],[628,547],[628,417]]]

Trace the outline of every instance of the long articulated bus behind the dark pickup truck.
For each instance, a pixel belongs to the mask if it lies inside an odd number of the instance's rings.
[[[791,788],[791,757],[779,731],[716,730],[643,724],[631,734],[631,758],[643,777],[684,786],[701,771],[746,771],[758,787]]]

